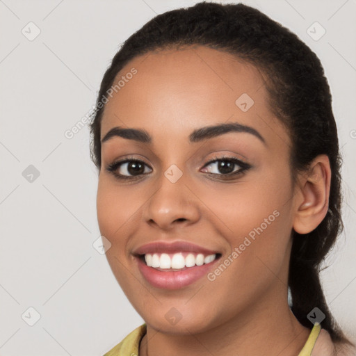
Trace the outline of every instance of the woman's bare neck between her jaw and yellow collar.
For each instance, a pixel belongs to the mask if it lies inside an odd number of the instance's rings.
[[[270,298],[264,296],[263,302],[259,300],[254,307],[245,308],[226,323],[199,334],[192,334],[188,329],[184,334],[165,334],[147,324],[139,356],[296,356],[310,330],[298,322],[286,298],[271,294]],[[278,294],[284,297],[284,293]]]

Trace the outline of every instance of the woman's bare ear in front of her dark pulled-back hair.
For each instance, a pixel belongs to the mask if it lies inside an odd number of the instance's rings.
[[[298,234],[312,232],[329,209],[331,169],[325,154],[316,156],[307,172],[299,175],[293,229]]]

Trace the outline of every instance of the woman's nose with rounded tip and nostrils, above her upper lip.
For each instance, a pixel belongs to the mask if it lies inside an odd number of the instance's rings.
[[[192,187],[186,186],[184,177],[172,183],[162,174],[159,184],[143,213],[149,225],[168,231],[200,219],[199,199]]]

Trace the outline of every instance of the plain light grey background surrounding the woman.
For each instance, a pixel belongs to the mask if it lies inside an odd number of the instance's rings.
[[[100,234],[88,128],[72,139],[65,131],[95,104],[121,42],[154,15],[195,2],[0,0],[0,355],[102,355],[143,323],[92,246]],[[356,1],[243,2],[297,33],[330,81],[346,229],[322,277],[356,341]],[[307,33],[314,22],[326,30],[318,40]],[[40,314],[33,326],[29,307]]]

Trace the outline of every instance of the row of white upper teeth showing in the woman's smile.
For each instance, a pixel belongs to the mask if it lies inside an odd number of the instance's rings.
[[[203,264],[209,264],[214,259],[216,259],[216,254],[209,254],[205,256],[202,253],[197,255],[193,253],[188,253],[186,257],[181,252],[175,254],[145,254],[145,261],[147,266],[153,268],[163,268],[163,269],[181,269],[184,267],[202,266]]]

